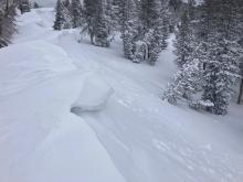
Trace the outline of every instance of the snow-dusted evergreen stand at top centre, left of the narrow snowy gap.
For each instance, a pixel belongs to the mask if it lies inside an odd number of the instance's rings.
[[[57,0],[54,30],[82,28],[91,43],[108,47],[120,32],[126,58],[154,65],[167,47],[169,0]]]

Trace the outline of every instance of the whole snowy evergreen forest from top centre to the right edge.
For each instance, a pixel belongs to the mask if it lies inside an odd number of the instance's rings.
[[[105,47],[120,32],[125,57],[151,65],[173,31],[178,72],[163,99],[225,115],[240,83],[242,101],[242,0],[57,0],[54,29],[70,28],[82,28],[92,44]]]

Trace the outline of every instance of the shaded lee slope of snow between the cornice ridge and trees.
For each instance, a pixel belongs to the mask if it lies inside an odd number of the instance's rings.
[[[71,32],[57,44],[115,90],[104,111],[77,115],[94,128],[127,181],[242,181],[241,117],[199,114],[159,98],[173,71],[171,46],[150,67],[124,60],[119,41],[104,50],[75,43],[75,38]]]

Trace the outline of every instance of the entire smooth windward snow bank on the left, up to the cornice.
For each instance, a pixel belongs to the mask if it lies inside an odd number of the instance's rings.
[[[83,87],[103,83],[87,86],[89,74],[42,41],[0,57],[0,182],[124,182],[94,131],[70,113]]]

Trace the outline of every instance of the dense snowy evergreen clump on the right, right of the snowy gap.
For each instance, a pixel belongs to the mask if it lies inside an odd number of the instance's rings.
[[[243,1],[189,1],[176,30],[178,72],[163,94],[170,104],[187,103],[193,109],[228,113],[240,84],[243,92]]]

